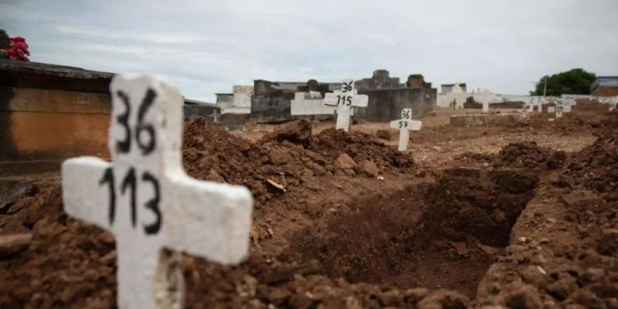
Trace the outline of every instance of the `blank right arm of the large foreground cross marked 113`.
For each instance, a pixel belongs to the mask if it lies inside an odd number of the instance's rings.
[[[163,201],[165,245],[221,264],[238,264],[249,252],[253,197],[247,187],[168,177]],[[172,203],[176,203],[172,207]]]

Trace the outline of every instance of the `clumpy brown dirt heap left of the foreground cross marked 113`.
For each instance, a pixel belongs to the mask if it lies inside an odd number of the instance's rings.
[[[3,233],[31,233],[32,240],[0,258],[0,308],[115,306],[114,238],[67,218],[58,184],[35,185],[7,214]]]

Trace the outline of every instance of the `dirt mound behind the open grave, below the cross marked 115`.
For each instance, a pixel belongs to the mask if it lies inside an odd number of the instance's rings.
[[[248,187],[258,207],[279,192],[268,180],[288,189],[315,177],[345,175],[334,164],[344,153],[358,163],[355,173],[368,176],[375,172],[363,170],[364,161],[376,165],[379,173],[406,173],[413,168],[411,155],[389,148],[376,137],[343,130],[324,130],[312,136],[310,124],[306,119],[290,122],[251,144],[197,118],[185,125],[183,164],[187,174],[198,179]]]

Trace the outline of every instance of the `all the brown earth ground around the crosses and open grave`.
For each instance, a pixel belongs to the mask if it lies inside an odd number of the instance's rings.
[[[431,128],[413,155],[306,122],[256,142],[187,124],[187,172],[256,199],[247,262],[183,258],[187,308],[618,308],[618,114],[569,115],[583,127]],[[0,308],[114,307],[113,237],[68,218],[57,183],[0,205],[16,233]]]

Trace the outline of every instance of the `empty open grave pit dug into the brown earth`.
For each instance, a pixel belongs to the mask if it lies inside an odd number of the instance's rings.
[[[431,185],[355,199],[324,225],[300,231],[284,260],[317,260],[328,277],[474,297],[534,196],[523,170],[446,170]]]

